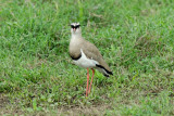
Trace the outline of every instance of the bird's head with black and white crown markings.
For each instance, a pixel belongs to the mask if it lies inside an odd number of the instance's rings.
[[[71,24],[72,35],[80,35],[82,34],[79,26],[80,26],[79,23],[72,23]]]

